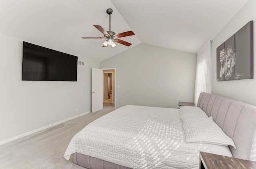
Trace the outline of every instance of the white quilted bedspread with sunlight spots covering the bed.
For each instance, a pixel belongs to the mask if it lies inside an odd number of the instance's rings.
[[[127,105],[78,132],[64,157],[77,152],[133,169],[198,169],[199,151],[232,157],[223,145],[187,143],[179,109]]]

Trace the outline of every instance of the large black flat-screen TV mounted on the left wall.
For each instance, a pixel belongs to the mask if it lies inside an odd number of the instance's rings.
[[[77,81],[77,59],[23,42],[22,81]]]

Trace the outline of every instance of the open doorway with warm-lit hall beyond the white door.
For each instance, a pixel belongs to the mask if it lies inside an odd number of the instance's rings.
[[[116,108],[115,71],[115,68],[103,69],[103,108]]]

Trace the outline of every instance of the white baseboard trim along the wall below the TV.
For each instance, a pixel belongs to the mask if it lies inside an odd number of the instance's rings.
[[[73,117],[71,117],[71,118],[67,118],[67,119],[65,119],[65,120],[61,120],[61,121],[59,121],[59,122],[56,122],[56,123],[53,123],[53,124],[44,126],[44,127],[42,127],[42,128],[38,128],[38,129],[36,129],[36,130],[32,130],[32,131],[30,131],[30,132],[27,132],[27,133],[24,133],[24,134],[20,134],[20,135],[18,135],[18,136],[15,136],[15,137],[12,137],[12,138],[9,138],[9,139],[0,141],[0,145],[5,144],[5,143],[8,143],[8,142],[10,142],[10,141],[14,141],[14,140],[23,138],[23,137],[25,137],[25,136],[29,136],[30,134],[34,134],[34,133],[36,133],[36,132],[40,132],[40,131],[45,130],[45,129],[47,129],[47,128],[51,128],[51,127],[53,127],[53,126],[56,126],[56,125],[58,125],[58,124],[61,124],[61,123],[66,122],[66,121],[68,121],[68,120],[72,120],[72,119],[74,119],[74,118],[83,116],[83,115],[88,114],[88,113],[90,113],[90,112],[92,112],[92,111],[88,111],[88,112],[85,112],[85,113],[82,113],[82,114],[78,114],[78,115],[73,116]]]

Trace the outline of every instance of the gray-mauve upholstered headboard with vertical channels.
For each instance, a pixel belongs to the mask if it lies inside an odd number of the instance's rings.
[[[256,106],[201,92],[200,107],[233,139],[233,157],[256,161]]]

